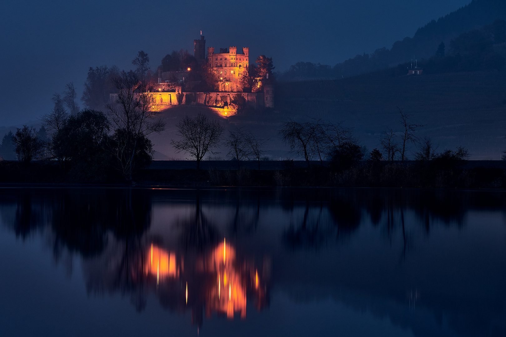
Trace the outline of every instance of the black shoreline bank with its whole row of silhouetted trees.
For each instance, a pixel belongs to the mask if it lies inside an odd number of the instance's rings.
[[[128,86],[128,74],[123,75],[126,77],[121,83]],[[145,99],[149,100],[148,94]],[[144,124],[128,127],[115,119],[124,116],[124,111],[117,106],[109,109],[109,118],[88,109],[75,116],[53,110],[45,116],[49,134],[46,141],[38,140],[34,129],[18,129],[13,138],[20,161],[3,162],[3,181],[493,188],[503,187],[506,181],[500,169],[461,169],[470,155],[468,150],[457,147],[438,151],[438,145],[429,137],[419,136],[424,125],[412,123],[412,116],[402,109],[398,112],[398,127],[385,130],[379,149],[372,151],[361,145],[354,129],[344,122],[287,120],[280,125],[279,137],[291,154],[306,161],[307,167],[298,168],[292,160],[286,160],[284,168],[276,171],[261,171],[262,161],[269,160],[266,153],[270,139],[243,128],[224,135],[218,120],[202,114],[187,116],[176,125],[179,139],[173,139],[172,145],[196,161],[196,170],[142,170],[152,160],[152,143],[147,135],[162,130],[163,123],[154,119],[157,113],[145,111],[143,115],[137,107],[135,119],[144,116]],[[144,133],[136,127],[144,128]],[[19,140],[25,138],[25,142]],[[236,161],[237,170],[199,170],[205,156],[217,154],[220,147],[229,151],[227,157]],[[36,156],[46,156],[46,160],[30,166]],[[256,161],[258,170],[241,168],[243,160]]]

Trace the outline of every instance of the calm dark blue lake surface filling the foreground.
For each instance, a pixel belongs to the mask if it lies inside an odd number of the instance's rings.
[[[0,189],[2,336],[503,336],[506,193]]]

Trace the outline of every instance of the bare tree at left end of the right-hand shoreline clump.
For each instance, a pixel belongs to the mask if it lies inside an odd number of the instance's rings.
[[[279,135],[283,142],[290,147],[290,152],[303,156],[309,167],[309,161],[315,153],[315,132],[316,129],[312,123],[299,123],[290,119],[283,123]]]

